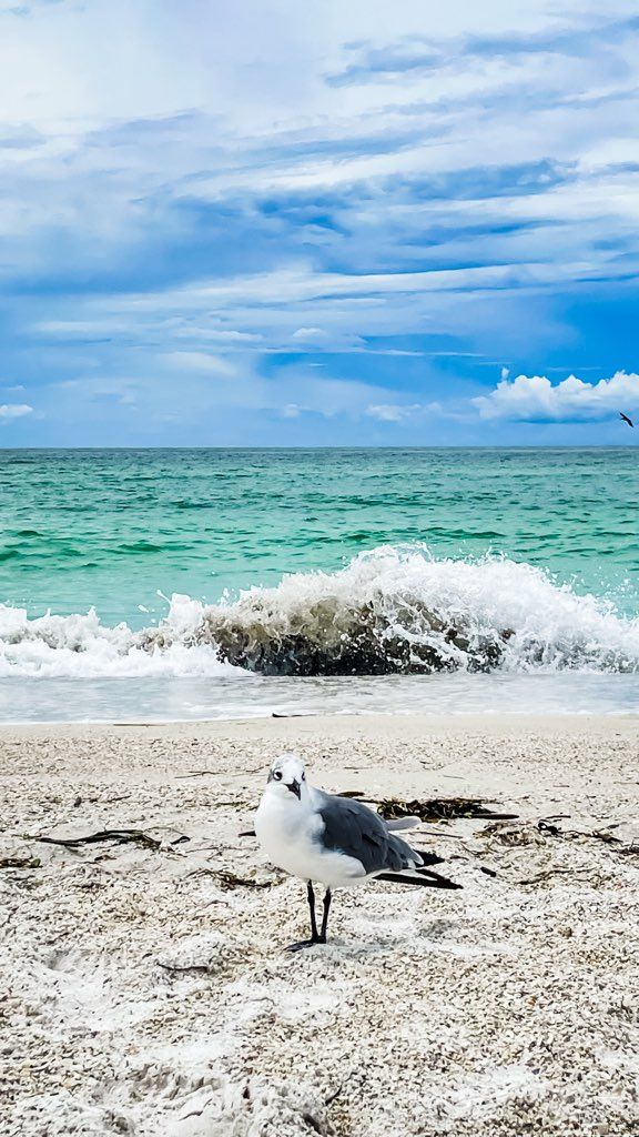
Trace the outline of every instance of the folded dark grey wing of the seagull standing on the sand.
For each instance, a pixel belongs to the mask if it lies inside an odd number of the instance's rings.
[[[400,872],[423,864],[422,857],[406,841],[390,833],[367,805],[348,797],[335,797],[316,790],[317,812],[324,822],[318,835],[322,846],[355,857],[372,872]]]

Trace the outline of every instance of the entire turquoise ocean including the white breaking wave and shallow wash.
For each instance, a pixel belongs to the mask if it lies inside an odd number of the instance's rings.
[[[620,449],[2,450],[0,719],[639,712]]]

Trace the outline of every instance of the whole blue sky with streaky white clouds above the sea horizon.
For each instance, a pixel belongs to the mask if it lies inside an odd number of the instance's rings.
[[[633,445],[638,300],[634,0],[0,0],[2,447]]]

